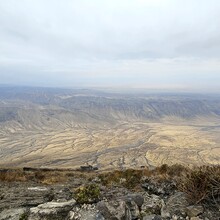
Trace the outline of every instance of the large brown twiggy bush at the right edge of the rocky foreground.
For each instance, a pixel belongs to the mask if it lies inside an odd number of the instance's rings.
[[[220,204],[220,166],[188,169],[180,178],[178,188],[194,204]]]

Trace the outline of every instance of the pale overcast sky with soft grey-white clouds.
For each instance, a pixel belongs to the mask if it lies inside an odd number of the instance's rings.
[[[219,0],[0,0],[0,84],[220,91]]]

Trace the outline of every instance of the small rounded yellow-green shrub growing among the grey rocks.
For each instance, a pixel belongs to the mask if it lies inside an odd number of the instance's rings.
[[[78,204],[94,203],[100,199],[100,188],[96,184],[89,184],[78,188],[74,193],[74,199]]]

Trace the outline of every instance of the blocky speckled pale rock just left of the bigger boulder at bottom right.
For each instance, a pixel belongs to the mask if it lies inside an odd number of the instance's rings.
[[[143,213],[160,215],[162,200],[157,195],[145,194],[144,203],[141,207]]]

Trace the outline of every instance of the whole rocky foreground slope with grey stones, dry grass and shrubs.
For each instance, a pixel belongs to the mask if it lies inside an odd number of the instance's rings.
[[[190,176],[180,168],[103,173],[4,170],[0,219],[219,220],[220,178],[214,179],[210,199],[210,184],[205,182],[212,170],[199,169]]]

